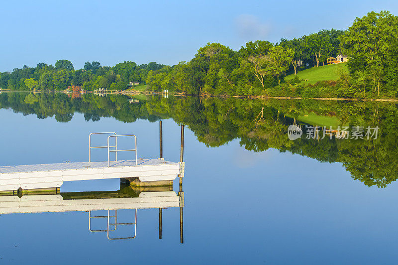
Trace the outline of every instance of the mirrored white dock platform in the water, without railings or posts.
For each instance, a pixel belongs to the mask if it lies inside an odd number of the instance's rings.
[[[165,186],[164,191],[134,192],[131,187],[122,192],[52,192],[35,195],[35,192],[0,196],[0,214],[41,213],[70,211],[102,211],[122,209],[149,209],[183,207],[184,195],[178,196]],[[51,193],[51,192],[49,192]],[[33,195],[30,195],[33,194]]]

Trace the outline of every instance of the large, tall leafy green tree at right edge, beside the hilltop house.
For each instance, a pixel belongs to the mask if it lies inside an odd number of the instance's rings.
[[[351,74],[358,72],[371,80],[373,91],[377,94],[387,84],[385,77],[398,75],[396,62],[398,54],[398,17],[388,11],[370,12],[356,18],[353,25],[340,37],[341,48],[351,56],[348,69]],[[394,63],[395,62],[395,63]],[[394,89],[398,80],[391,83]]]

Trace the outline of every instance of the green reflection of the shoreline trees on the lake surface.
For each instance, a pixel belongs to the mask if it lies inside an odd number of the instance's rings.
[[[38,118],[55,116],[59,122],[70,121],[75,112],[84,113],[85,119],[92,121],[100,117],[114,117],[123,122],[173,118],[189,126],[206,146],[218,147],[239,138],[240,145],[250,151],[274,148],[321,162],[341,162],[354,179],[368,186],[385,187],[397,179],[398,109],[390,103],[172,96],[149,96],[145,103],[130,103],[129,99],[125,95],[85,94],[82,98],[70,98],[63,93],[2,93],[0,107],[24,115],[36,114]],[[300,122],[299,117],[309,112],[320,117],[332,116],[341,125],[377,125],[379,137],[350,141],[327,138],[314,141],[301,137],[290,141],[288,126],[294,120]]]

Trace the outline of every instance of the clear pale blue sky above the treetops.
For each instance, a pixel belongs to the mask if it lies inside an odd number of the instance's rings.
[[[392,0],[7,1],[0,15],[0,71],[58,59],[75,69],[134,61],[174,65],[207,42],[237,50],[250,40],[278,42],[324,28],[346,29]],[[331,18],[327,18],[327,14]]]

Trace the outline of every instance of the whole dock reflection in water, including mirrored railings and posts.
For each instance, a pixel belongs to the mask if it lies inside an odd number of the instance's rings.
[[[180,186],[181,188],[181,186]],[[0,195],[0,214],[15,213],[43,213],[86,211],[89,217],[90,232],[106,232],[109,240],[133,239],[137,234],[137,209],[159,208],[159,239],[162,238],[162,210],[163,208],[180,208],[180,242],[183,243],[182,208],[184,207],[184,192],[174,192],[172,186],[162,187],[132,187],[121,183],[117,191],[89,191],[89,192],[60,192],[52,191],[14,192],[14,194]],[[120,222],[118,211],[134,210],[133,222]],[[107,211],[105,215],[92,213]],[[102,227],[98,221],[103,220]],[[105,226],[106,224],[106,226]],[[133,226],[125,237],[115,237],[112,233],[120,226]]]

